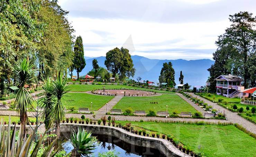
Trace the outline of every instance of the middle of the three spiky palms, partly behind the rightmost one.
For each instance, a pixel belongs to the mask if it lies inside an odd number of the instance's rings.
[[[52,126],[51,111],[53,109],[53,82],[50,78],[44,79],[43,84],[44,97],[40,99],[40,106],[44,109],[42,112],[42,120],[45,121],[45,130],[49,130]]]

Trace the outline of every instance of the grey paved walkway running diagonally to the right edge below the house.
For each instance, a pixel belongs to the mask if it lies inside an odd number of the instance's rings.
[[[237,115],[237,112],[232,112],[232,111],[229,111],[227,109],[225,109],[224,107],[222,106],[219,106],[217,103],[213,103],[211,102],[210,100],[207,100],[207,99],[204,99],[198,95],[195,95],[194,93],[188,93],[190,95],[192,95],[193,97],[196,97],[200,100],[203,100],[204,102],[206,102],[207,104],[209,105],[212,105],[213,108],[217,109],[217,110],[220,110],[220,111],[225,111],[225,113],[227,112],[227,118],[228,118],[228,121],[229,122],[232,122],[232,123],[237,123],[241,126],[243,126],[244,128],[246,128],[248,131],[256,134],[256,125],[253,124],[252,122],[240,117]]]

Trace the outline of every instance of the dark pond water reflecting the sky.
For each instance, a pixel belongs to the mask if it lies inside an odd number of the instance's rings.
[[[119,152],[120,157],[165,157],[165,155],[157,149],[131,145],[113,136],[96,134],[93,134],[93,136],[96,136],[98,139],[96,149],[93,150],[93,156],[95,157],[97,157],[99,153],[104,153],[109,150]],[[63,149],[67,153],[70,153],[74,147],[70,143],[68,136],[63,137],[61,140]]]

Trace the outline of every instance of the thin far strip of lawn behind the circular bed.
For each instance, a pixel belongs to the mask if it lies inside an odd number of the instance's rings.
[[[103,89],[103,86],[105,86],[105,89],[120,89],[120,88],[129,88],[129,89],[140,89],[140,90],[146,90],[146,91],[155,91],[158,93],[174,93],[172,91],[164,91],[164,90],[153,90],[153,89],[147,89],[147,88],[139,88],[139,87],[132,87],[127,85],[70,85],[71,91],[90,91],[90,90],[98,90]]]

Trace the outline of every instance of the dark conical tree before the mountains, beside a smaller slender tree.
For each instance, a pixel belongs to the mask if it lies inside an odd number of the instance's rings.
[[[163,67],[160,72],[160,76],[164,75],[165,81],[169,87],[175,87],[175,71],[172,67],[172,62],[163,63]]]

